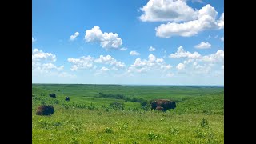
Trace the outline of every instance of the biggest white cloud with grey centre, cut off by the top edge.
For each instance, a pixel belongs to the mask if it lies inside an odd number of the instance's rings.
[[[181,22],[197,18],[197,11],[181,0],[150,0],[140,10],[144,13],[139,17],[142,22]]]

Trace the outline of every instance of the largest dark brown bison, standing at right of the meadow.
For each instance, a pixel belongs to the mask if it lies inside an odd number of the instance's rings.
[[[175,109],[176,103],[168,99],[157,99],[151,102],[151,110],[162,110],[166,111],[169,109]]]

